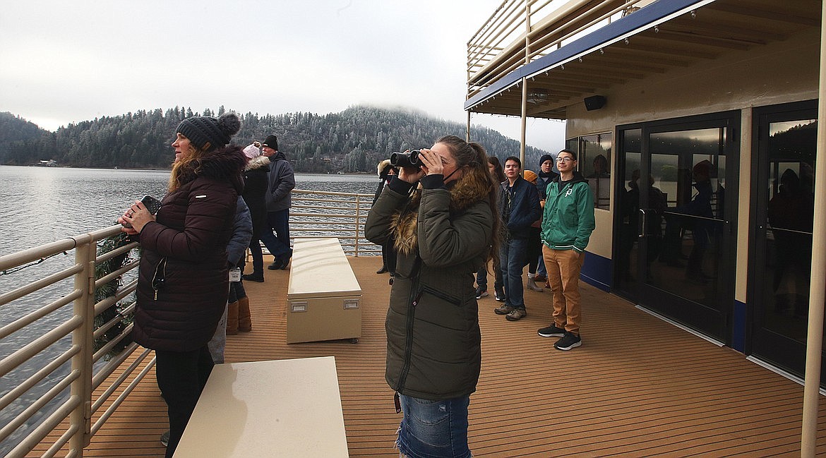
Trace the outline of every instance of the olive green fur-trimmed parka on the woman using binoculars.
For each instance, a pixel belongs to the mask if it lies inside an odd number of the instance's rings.
[[[493,232],[489,183],[472,174],[444,187],[441,175],[411,185],[397,177],[368,215],[373,243],[394,242],[396,275],[387,309],[387,384],[421,399],[476,390],[482,366],[474,274]]]

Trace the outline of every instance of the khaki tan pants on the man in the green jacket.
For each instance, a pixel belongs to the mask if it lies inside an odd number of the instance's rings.
[[[542,257],[553,291],[553,323],[578,336],[582,319],[579,272],[582,270],[585,253],[572,249],[553,250],[542,245]]]

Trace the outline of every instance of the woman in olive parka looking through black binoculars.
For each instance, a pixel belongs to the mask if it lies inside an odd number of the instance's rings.
[[[498,248],[496,183],[482,145],[453,135],[419,158],[422,167],[401,168],[384,188],[364,227],[373,243],[394,238],[397,251],[385,378],[404,412],[404,456],[466,458],[482,365],[473,274]]]

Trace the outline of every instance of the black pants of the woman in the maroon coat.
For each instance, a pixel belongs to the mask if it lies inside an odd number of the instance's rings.
[[[183,430],[195,410],[212,371],[212,356],[206,345],[192,352],[155,351],[155,376],[169,414],[169,446],[166,458],[175,453]]]

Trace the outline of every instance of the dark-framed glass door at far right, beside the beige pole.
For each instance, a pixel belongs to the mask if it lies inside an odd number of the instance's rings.
[[[755,110],[755,120],[751,353],[802,377],[812,273],[817,104],[763,107]],[[826,382],[823,375],[821,380]]]

